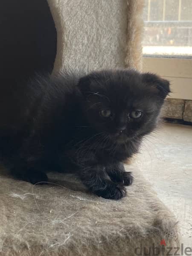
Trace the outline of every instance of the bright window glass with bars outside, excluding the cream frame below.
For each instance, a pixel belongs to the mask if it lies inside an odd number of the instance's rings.
[[[192,56],[192,0],[145,0],[145,55]]]

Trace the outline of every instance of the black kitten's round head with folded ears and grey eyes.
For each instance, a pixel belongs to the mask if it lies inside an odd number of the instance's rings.
[[[90,126],[117,143],[151,132],[170,92],[169,81],[135,70],[90,73],[79,80],[78,87]]]

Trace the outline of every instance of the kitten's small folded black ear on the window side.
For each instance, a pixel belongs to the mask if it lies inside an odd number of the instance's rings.
[[[169,81],[160,78],[160,76],[157,76],[155,74],[142,74],[142,81],[148,86],[151,86],[151,93],[157,94],[161,99],[165,99],[166,96],[171,92]]]

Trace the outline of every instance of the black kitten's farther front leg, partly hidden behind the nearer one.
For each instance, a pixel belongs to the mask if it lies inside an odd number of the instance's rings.
[[[131,172],[125,172],[123,163],[114,164],[106,168],[106,172],[113,182],[129,186],[133,183]]]

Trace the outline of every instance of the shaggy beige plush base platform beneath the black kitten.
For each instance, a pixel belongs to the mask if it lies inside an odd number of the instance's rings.
[[[2,174],[0,255],[134,256],[137,247],[163,247],[162,239],[176,247],[174,216],[133,171],[134,184],[120,201],[87,193],[71,175],[50,174],[52,183],[34,186]]]

